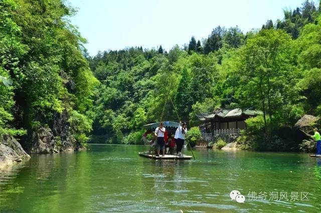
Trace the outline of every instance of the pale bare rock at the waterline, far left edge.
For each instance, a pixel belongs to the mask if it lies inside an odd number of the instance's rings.
[[[29,158],[30,155],[13,136],[0,137],[0,169]]]

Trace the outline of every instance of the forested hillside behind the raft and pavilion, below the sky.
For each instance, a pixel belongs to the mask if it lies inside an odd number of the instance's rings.
[[[297,149],[290,135],[279,132],[304,113],[321,113],[320,27],[320,7],[306,0],[246,34],[238,26],[217,26],[202,42],[192,37],[183,48],[98,52],[88,57],[101,82],[93,134],[109,143],[140,141],[141,126],[161,118],[169,94],[190,125],[197,124],[197,113],[220,107],[260,109],[262,116],[247,120],[244,142]],[[171,103],[163,119],[178,119]]]

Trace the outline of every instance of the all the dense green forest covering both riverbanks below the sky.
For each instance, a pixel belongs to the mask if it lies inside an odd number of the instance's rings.
[[[305,0],[283,19],[243,33],[217,26],[170,50],[142,46],[88,55],[75,10],[62,0],[0,0],[0,135],[31,150],[35,135],[59,149],[140,143],[142,125],[161,119],[197,125],[196,114],[255,108],[239,142],[297,150],[284,135],[303,115],[321,114],[321,7]],[[49,129],[49,130],[48,130]],[[36,134],[35,134],[36,133]]]

